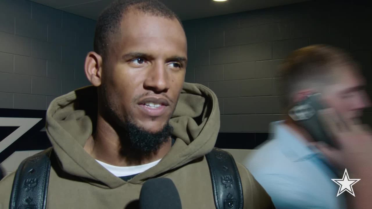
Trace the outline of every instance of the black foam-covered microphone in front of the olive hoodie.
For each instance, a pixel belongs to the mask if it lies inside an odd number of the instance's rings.
[[[182,209],[173,181],[168,178],[147,180],[141,188],[140,209]]]

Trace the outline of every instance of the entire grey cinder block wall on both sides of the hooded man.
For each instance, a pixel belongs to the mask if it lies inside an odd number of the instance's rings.
[[[318,1],[185,21],[185,81],[215,91],[221,132],[267,132],[283,116],[276,73],[292,50],[343,47],[372,77],[371,14],[364,6]],[[94,20],[27,0],[0,0],[0,20],[0,108],[46,109],[89,84],[83,64]],[[370,111],[365,115],[372,122]]]

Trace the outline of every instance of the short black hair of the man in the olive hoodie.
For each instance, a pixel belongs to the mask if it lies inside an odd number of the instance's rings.
[[[181,26],[182,21],[167,6],[158,0],[115,0],[100,14],[94,33],[94,52],[102,56],[107,55],[107,47],[112,35],[120,30],[122,18],[129,11],[135,9],[152,16],[177,19]],[[182,26],[183,27],[183,26]]]

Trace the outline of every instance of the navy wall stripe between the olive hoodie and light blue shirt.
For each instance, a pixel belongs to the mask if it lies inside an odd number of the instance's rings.
[[[219,132],[215,147],[221,149],[253,149],[264,142],[268,133]]]

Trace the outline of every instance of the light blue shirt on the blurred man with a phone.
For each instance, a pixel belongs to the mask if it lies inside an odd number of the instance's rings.
[[[270,124],[270,137],[243,164],[271,196],[276,209],[346,208],[336,197],[336,174],[316,149],[283,123]]]

